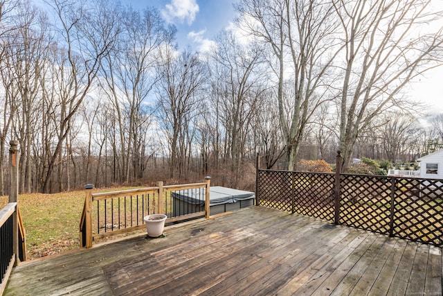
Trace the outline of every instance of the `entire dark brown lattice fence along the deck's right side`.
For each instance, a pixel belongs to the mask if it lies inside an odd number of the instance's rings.
[[[443,247],[443,182],[257,169],[257,205]]]

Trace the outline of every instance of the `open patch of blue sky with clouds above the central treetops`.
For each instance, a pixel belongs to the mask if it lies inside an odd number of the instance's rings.
[[[235,11],[233,0],[121,0],[134,9],[152,6],[163,18],[177,26],[177,42],[181,49],[191,46],[205,51],[222,28],[231,26]]]

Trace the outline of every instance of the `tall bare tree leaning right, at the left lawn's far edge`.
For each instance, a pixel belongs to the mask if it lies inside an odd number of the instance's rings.
[[[109,13],[105,1],[87,6],[85,1],[75,3],[54,0],[48,3],[58,17],[57,26],[60,44],[60,60],[55,60],[57,68],[53,68],[53,85],[56,96],[60,99],[60,110],[53,112],[54,120],[58,121],[57,143],[51,151],[44,179],[42,192],[48,192],[51,177],[62,153],[64,141],[73,125],[73,116],[93,87],[100,62],[116,42],[117,17]]]

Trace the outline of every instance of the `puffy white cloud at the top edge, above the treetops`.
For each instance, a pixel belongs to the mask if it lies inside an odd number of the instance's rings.
[[[179,19],[181,23],[187,22],[191,25],[195,20],[195,16],[199,12],[197,0],[171,0],[170,4],[166,4],[165,9],[161,10],[163,18],[172,23],[174,19]]]

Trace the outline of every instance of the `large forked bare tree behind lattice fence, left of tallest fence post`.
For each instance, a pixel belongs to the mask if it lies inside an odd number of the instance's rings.
[[[245,0],[237,9],[246,16],[243,27],[273,52],[270,66],[278,80],[280,125],[287,168],[292,170],[309,118],[332,98],[325,87],[331,83],[329,70],[338,52],[332,5],[311,0]],[[293,88],[289,98],[284,96],[285,81],[291,81]],[[284,109],[285,99],[293,102],[290,112]]]

